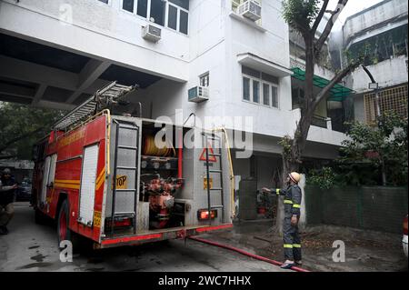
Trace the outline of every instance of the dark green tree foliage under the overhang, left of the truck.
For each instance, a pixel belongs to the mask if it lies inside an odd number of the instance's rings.
[[[30,159],[32,146],[62,115],[58,110],[0,102],[0,156]]]

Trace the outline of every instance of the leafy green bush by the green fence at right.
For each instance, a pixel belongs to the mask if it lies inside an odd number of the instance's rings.
[[[348,125],[340,172],[350,185],[379,184],[384,163],[388,185],[407,185],[407,120],[394,112],[376,119],[376,125]]]

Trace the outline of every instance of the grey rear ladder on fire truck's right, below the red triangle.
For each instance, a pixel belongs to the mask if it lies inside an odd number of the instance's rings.
[[[220,138],[220,136],[216,136],[214,135],[214,132],[211,135],[205,134],[203,133],[203,135],[205,136],[205,154],[206,154],[206,182],[207,182],[207,208],[208,208],[208,212],[209,212],[209,225],[212,225],[212,215],[211,215],[211,211],[212,209],[222,209],[222,222],[224,222],[224,188],[223,188],[223,160],[222,160],[222,139]],[[219,144],[219,152],[218,153],[210,153],[209,152],[209,140],[212,141],[218,141]],[[214,143],[214,142],[213,142]],[[213,146],[215,147],[215,146]],[[209,157],[214,157],[220,158],[220,168],[219,169],[210,169],[209,166],[209,162],[210,159]],[[213,187],[210,188],[210,174],[218,174],[220,175],[220,187]],[[211,193],[213,191],[220,191],[220,198],[221,198],[221,205],[212,205],[212,200],[211,200]]]

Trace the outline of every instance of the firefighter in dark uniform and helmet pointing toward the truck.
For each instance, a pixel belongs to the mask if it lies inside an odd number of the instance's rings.
[[[292,172],[287,176],[287,188],[263,188],[264,193],[284,195],[284,258],[285,262],[281,266],[284,269],[293,265],[301,265],[301,239],[298,233],[298,221],[300,219],[301,188],[298,186],[301,176]]]

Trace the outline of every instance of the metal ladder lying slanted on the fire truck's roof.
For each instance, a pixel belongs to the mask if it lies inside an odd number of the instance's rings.
[[[87,118],[102,111],[109,105],[116,104],[122,96],[135,90],[135,88],[136,85],[118,85],[116,84],[116,81],[106,85],[102,89],[96,91],[96,93],[83,104],[78,105],[74,110],[59,120],[54,125],[54,129],[57,131],[67,131],[67,129],[73,125],[85,121]]]

